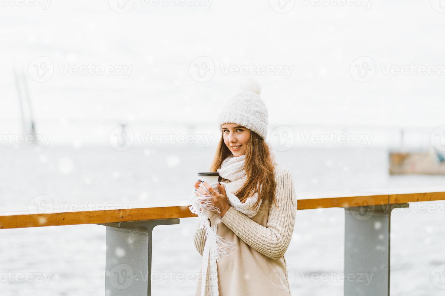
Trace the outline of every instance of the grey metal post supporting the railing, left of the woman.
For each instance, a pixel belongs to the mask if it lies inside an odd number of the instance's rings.
[[[179,219],[99,223],[107,226],[105,296],[151,296],[152,233]]]

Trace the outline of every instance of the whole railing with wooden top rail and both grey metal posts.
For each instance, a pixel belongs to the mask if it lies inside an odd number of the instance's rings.
[[[398,207],[411,202],[445,200],[443,188],[378,189],[351,193],[297,193],[298,210],[345,209],[344,272],[373,273],[372,282],[344,282],[344,295],[389,295],[390,217]],[[297,213],[298,215],[298,213]],[[107,209],[64,212],[52,209],[43,213],[27,207],[0,208],[0,229],[26,227],[99,224],[107,226],[106,273],[116,273],[116,264],[135,270],[151,271],[152,230],[156,225],[179,224],[180,218],[197,217],[190,213],[186,201],[131,203],[128,209]],[[379,223],[379,229],[374,225]],[[1,232],[0,232],[1,233]],[[128,236],[131,235],[131,243]],[[377,241],[378,237],[378,241]],[[380,248],[370,248],[376,243]],[[142,248],[138,246],[147,246]],[[381,248],[381,246],[384,246]],[[125,256],[113,251],[121,248]],[[368,250],[364,252],[364,250]],[[140,260],[145,257],[147,260]],[[119,266],[120,266],[119,265]],[[116,273],[117,277],[119,276]],[[121,281],[107,276],[105,288],[109,295],[123,295]],[[125,288],[125,295],[151,295],[151,282],[134,282]]]

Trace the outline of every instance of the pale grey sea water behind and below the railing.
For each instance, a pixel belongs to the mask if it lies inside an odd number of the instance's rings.
[[[123,152],[109,146],[3,146],[1,207],[27,206],[42,194],[65,209],[187,199],[196,172],[208,170],[213,155],[214,148],[190,146],[151,145]],[[277,151],[276,159],[291,170],[297,198],[307,192],[445,181],[445,176],[390,176],[384,148],[295,148]],[[430,280],[433,269],[445,263],[443,203],[427,203],[435,211],[393,211],[391,295],[443,292]],[[179,225],[154,229],[152,295],[194,295],[202,258],[193,244],[197,227],[195,218],[183,218]],[[4,229],[0,236],[1,295],[105,294],[105,226]],[[297,211],[285,257],[293,295],[343,295],[344,209]],[[27,274],[30,280],[23,279]]]

